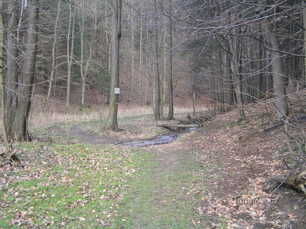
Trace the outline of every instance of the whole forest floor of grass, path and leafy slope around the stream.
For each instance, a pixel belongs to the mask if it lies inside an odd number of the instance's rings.
[[[118,143],[169,132],[149,115],[119,119],[119,133],[98,121],[37,127],[13,145],[20,162],[1,162],[0,228],[306,228],[303,193],[262,190],[284,170],[282,130],[263,132],[259,107],[246,121],[236,112],[141,148]]]

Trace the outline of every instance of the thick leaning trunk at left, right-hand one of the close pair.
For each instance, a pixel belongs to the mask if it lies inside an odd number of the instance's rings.
[[[31,107],[33,78],[35,73],[35,61],[38,35],[39,1],[28,0],[28,27],[26,42],[26,58],[22,69],[21,84],[18,86],[18,106],[16,120],[14,122],[14,135],[18,141],[28,139],[28,116]]]

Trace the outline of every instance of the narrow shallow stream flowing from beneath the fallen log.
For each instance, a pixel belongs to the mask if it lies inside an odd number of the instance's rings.
[[[123,143],[117,143],[117,145],[124,147],[144,147],[150,145],[167,144],[169,142],[176,141],[177,139],[181,138],[181,136],[183,136],[185,133],[189,133],[195,129],[196,128],[186,128],[180,131],[173,132],[171,134],[160,135],[154,139],[147,141],[123,142]]]

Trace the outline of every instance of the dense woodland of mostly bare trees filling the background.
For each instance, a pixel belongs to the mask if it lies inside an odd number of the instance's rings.
[[[17,140],[27,138],[35,96],[44,98],[42,107],[65,96],[65,109],[73,88],[80,108],[92,91],[111,97],[112,49],[119,42],[120,101],[151,104],[156,120],[165,118],[168,104],[173,119],[173,92],[182,82],[189,81],[184,87],[193,103],[207,99],[217,112],[237,107],[239,118],[245,118],[245,104],[274,96],[268,103],[282,119],[289,114],[286,87],[304,87],[303,2],[1,4],[2,129]],[[116,20],[119,39],[113,38]]]

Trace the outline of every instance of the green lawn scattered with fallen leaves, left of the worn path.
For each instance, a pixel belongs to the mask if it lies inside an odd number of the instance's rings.
[[[99,228],[124,217],[119,210],[125,177],[135,171],[132,160],[140,160],[130,150],[81,144],[49,144],[46,152],[40,143],[19,147],[35,156],[32,166],[6,173],[11,180],[0,188],[5,204],[0,228]]]

